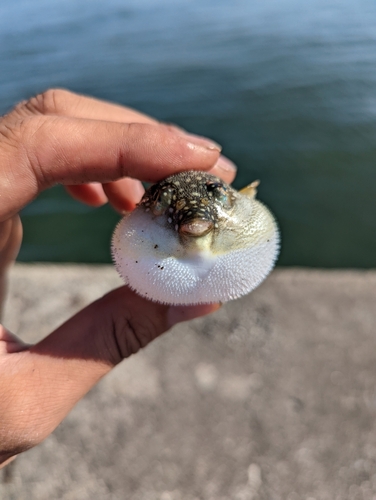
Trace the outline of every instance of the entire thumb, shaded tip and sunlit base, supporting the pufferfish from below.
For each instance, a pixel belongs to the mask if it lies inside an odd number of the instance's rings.
[[[9,354],[2,365],[0,400],[12,401],[2,421],[5,435],[9,439],[14,436],[17,444],[5,442],[4,449],[10,450],[11,456],[37,445],[123,358],[177,322],[218,307],[158,304],[121,287],[80,311],[38,344]]]

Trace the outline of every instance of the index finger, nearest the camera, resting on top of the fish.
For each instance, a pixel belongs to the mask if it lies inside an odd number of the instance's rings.
[[[10,133],[11,129],[11,133]],[[9,217],[54,184],[106,183],[122,177],[155,182],[183,170],[208,170],[220,147],[165,125],[56,116],[0,122],[2,204]]]

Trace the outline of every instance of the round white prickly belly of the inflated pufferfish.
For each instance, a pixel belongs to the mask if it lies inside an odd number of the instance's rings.
[[[112,241],[116,268],[137,293],[168,304],[226,302],[251,292],[274,266],[279,235],[221,255],[187,255],[177,234],[136,210],[118,224]]]

